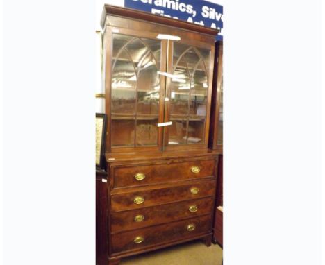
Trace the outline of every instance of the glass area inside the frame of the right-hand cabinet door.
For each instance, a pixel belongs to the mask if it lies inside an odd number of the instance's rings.
[[[183,126],[182,137],[179,129],[176,133],[176,124],[169,130],[169,144],[203,144],[210,51],[178,42],[173,43],[173,51],[172,74],[175,77],[172,78],[170,94],[170,120],[173,121],[175,115],[181,115],[185,120],[176,123]]]

